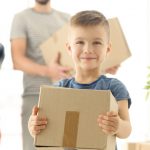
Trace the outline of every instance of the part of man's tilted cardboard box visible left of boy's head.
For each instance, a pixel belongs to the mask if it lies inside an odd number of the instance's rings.
[[[66,49],[68,36],[68,24],[57,30],[48,40],[40,45],[43,57],[47,65],[50,65],[57,53],[61,53],[61,63],[73,67],[73,62]]]

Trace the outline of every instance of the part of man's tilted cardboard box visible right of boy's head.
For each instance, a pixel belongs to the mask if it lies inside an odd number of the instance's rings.
[[[109,25],[112,50],[108,53],[104,63],[102,64],[103,71],[106,68],[121,64],[124,60],[131,56],[131,52],[118,18],[109,19]]]

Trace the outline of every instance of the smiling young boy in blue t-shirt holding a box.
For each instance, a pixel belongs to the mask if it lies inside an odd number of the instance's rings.
[[[97,11],[82,11],[70,20],[67,49],[74,65],[75,76],[58,82],[60,87],[111,90],[118,102],[118,112],[100,114],[98,126],[106,134],[127,138],[131,133],[128,108],[131,99],[126,87],[115,78],[107,78],[100,72],[100,66],[111,50],[109,24],[105,16]],[[28,122],[30,134],[34,137],[46,127],[46,117],[37,117],[34,107]]]

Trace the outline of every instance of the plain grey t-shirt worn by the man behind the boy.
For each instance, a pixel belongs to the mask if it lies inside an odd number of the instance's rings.
[[[68,14],[55,9],[52,9],[50,13],[38,13],[32,8],[28,8],[15,15],[12,22],[10,40],[25,38],[27,40],[26,55],[39,64],[45,64],[39,46],[67,23],[69,17]],[[52,83],[49,78],[24,73],[23,95],[39,94],[41,84],[50,85]]]

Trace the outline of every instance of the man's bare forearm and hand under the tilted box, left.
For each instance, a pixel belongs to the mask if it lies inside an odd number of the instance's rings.
[[[48,67],[40,65],[26,56],[27,41],[24,38],[17,38],[11,40],[11,53],[14,69],[21,70],[28,74],[50,77],[52,79],[60,79],[67,77],[70,68],[61,66],[57,60]]]

